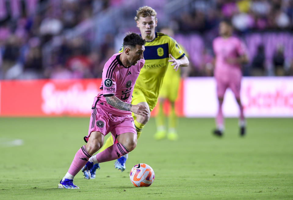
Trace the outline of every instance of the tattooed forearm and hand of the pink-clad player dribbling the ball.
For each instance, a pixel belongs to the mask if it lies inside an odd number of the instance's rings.
[[[118,99],[116,96],[106,96],[106,102],[107,104],[113,106],[114,108],[117,108],[122,111],[131,111],[135,114],[141,115],[146,117],[149,114],[149,111],[146,106],[141,104],[127,104],[120,99]]]

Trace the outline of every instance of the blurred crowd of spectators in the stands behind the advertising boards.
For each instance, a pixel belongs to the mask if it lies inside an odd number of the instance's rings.
[[[186,48],[198,57],[189,76],[213,75],[212,39],[222,19],[230,19],[247,44],[253,34],[274,34],[273,49],[266,40],[248,46],[254,53],[244,75],[293,75],[293,52],[286,52],[292,47],[279,43],[284,35],[293,42],[292,0],[0,0],[0,79],[101,77],[121,45],[115,38],[139,31],[133,18],[142,5],[157,11],[156,31],[172,27],[176,40],[195,35],[194,43],[203,44]]]

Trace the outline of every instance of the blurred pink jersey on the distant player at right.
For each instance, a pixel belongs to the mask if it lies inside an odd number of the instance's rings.
[[[215,38],[213,49],[216,56],[215,78],[230,80],[231,78],[241,78],[241,66],[239,64],[229,64],[227,58],[236,58],[244,55],[246,48],[240,39],[236,37]]]

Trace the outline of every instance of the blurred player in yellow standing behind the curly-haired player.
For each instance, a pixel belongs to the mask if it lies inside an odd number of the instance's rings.
[[[161,28],[160,32],[166,35],[169,35],[171,37],[174,36],[173,30],[169,27]],[[184,51],[185,56],[188,57],[186,50],[183,49],[182,45],[180,45],[180,48]],[[172,68],[171,64],[172,64],[171,62],[168,64],[167,71],[166,71],[166,74],[161,86],[161,90],[159,93],[158,113],[156,117],[157,132],[154,135],[154,138],[156,140],[161,140],[165,138],[166,136],[169,140],[178,139],[178,134],[176,130],[177,116],[175,113],[175,100],[177,99],[177,95],[178,95],[181,70],[179,68],[177,71],[175,71]],[[168,132],[165,125],[165,114],[163,111],[163,105],[166,100],[168,100],[171,105],[171,109],[168,115]]]

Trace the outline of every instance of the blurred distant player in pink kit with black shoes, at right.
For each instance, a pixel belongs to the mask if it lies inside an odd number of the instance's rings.
[[[245,119],[243,115],[243,106],[240,100],[241,88],[241,64],[248,62],[246,48],[239,38],[232,36],[232,25],[229,21],[221,21],[219,24],[219,35],[213,41],[215,53],[215,71],[214,76],[217,84],[217,96],[219,101],[218,114],[216,116],[217,128],[214,134],[222,136],[224,131],[224,119],[222,113],[222,104],[224,94],[227,88],[230,88],[235,95],[239,105],[240,117],[240,135],[245,135]]]

